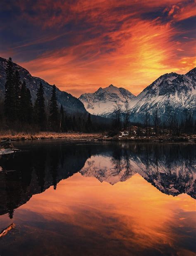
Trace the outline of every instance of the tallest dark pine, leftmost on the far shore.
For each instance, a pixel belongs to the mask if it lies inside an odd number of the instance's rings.
[[[4,113],[8,121],[16,120],[16,104],[14,89],[14,67],[12,58],[7,60]]]

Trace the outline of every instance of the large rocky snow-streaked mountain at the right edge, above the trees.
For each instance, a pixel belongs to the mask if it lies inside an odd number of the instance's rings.
[[[167,73],[146,87],[131,102],[132,121],[141,121],[146,111],[153,114],[156,107],[166,120],[168,106],[178,118],[186,111],[196,117],[196,68],[185,75]]]

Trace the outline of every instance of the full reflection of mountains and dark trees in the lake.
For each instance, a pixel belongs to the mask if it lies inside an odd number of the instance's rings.
[[[0,159],[0,215],[9,214],[33,194],[76,172],[116,184],[138,173],[161,192],[196,198],[195,145],[139,143],[19,144],[15,155]]]

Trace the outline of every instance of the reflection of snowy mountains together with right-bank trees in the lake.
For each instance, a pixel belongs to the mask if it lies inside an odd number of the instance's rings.
[[[172,196],[186,193],[196,198],[194,145],[116,147],[112,155],[100,153],[88,158],[80,173],[111,185],[139,174],[162,193]],[[190,161],[187,161],[188,155]]]

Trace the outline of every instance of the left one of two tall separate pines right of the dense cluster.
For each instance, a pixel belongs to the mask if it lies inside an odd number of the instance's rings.
[[[38,125],[40,126],[41,130],[44,129],[45,126],[45,99],[44,99],[44,88],[42,82],[40,82],[40,86],[37,91],[37,99],[36,99],[36,115]]]

